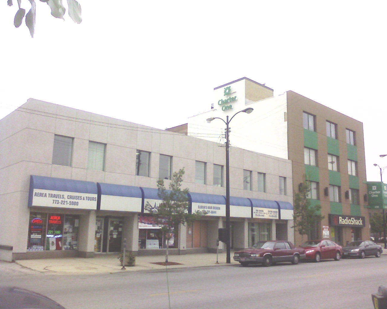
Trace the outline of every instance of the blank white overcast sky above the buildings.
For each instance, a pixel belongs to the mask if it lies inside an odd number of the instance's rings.
[[[0,119],[36,98],[165,129],[246,76],[363,122],[367,180],[387,166],[386,1],[78,0],[79,25],[35,1],[34,38],[0,3]]]

